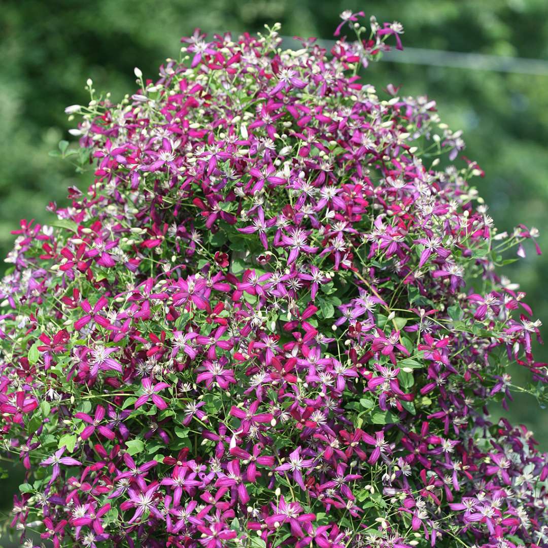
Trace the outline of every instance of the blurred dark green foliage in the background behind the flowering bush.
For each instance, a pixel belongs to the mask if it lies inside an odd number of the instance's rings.
[[[195,27],[237,33],[279,21],[286,36],[332,38],[344,9],[401,21],[404,46],[548,59],[546,0],[4,0],[0,254],[12,246],[9,231],[20,218],[47,222],[45,204],[64,204],[67,186],[85,189],[91,180],[48,156],[60,139],[72,140],[63,111],[88,100],[88,77],[118,101],[136,87],[134,66],[154,79],[159,64],[178,55],[179,38]],[[435,99],[443,121],[464,130],[465,154],[486,170],[477,184],[496,225],[540,229],[545,255],[528,246],[527,259],[506,267],[506,274],[548,324],[548,76],[381,61],[366,79],[379,90],[392,82],[405,95]],[[548,361],[544,348],[536,356]],[[512,374],[518,380],[522,372]],[[533,429],[544,449],[546,416],[529,396],[516,397],[510,409],[511,420]]]

